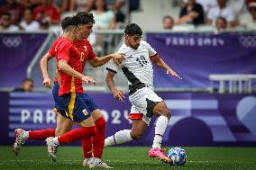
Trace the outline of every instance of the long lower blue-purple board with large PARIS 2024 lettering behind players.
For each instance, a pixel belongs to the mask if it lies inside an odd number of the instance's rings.
[[[158,93],[172,117],[163,139],[165,146],[256,146],[256,96],[245,94]],[[105,136],[130,130],[131,103],[116,101],[112,94],[90,94],[105,116]],[[14,130],[56,127],[50,94],[0,93],[0,145],[14,143]],[[143,138],[128,145],[151,145],[156,118]],[[44,144],[44,141],[29,144]]]

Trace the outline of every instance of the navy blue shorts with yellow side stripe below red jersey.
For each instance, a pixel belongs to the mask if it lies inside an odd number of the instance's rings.
[[[57,111],[73,121],[86,120],[91,112],[98,109],[98,105],[88,94],[69,93],[59,96],[59,84],[54,83],[52,95]]]

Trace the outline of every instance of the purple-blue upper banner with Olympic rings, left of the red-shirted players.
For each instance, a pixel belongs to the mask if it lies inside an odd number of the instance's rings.
[[[41,44],[43,34],[0,34],[0,82],[1,87],[19,87],[27,76],[26,70]]]

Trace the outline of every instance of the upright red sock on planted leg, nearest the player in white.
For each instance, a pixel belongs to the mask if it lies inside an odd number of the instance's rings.
[[[96,135],[93,136],[94,157],[101,158],[105,144],[105,119],[101,117],[95,121]]]

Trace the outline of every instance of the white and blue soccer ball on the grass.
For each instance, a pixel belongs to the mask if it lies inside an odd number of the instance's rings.
[[[186,163],[187,154],[182,148],[170,148],[167,157],[171,160],[171,166],[184,166]]]

